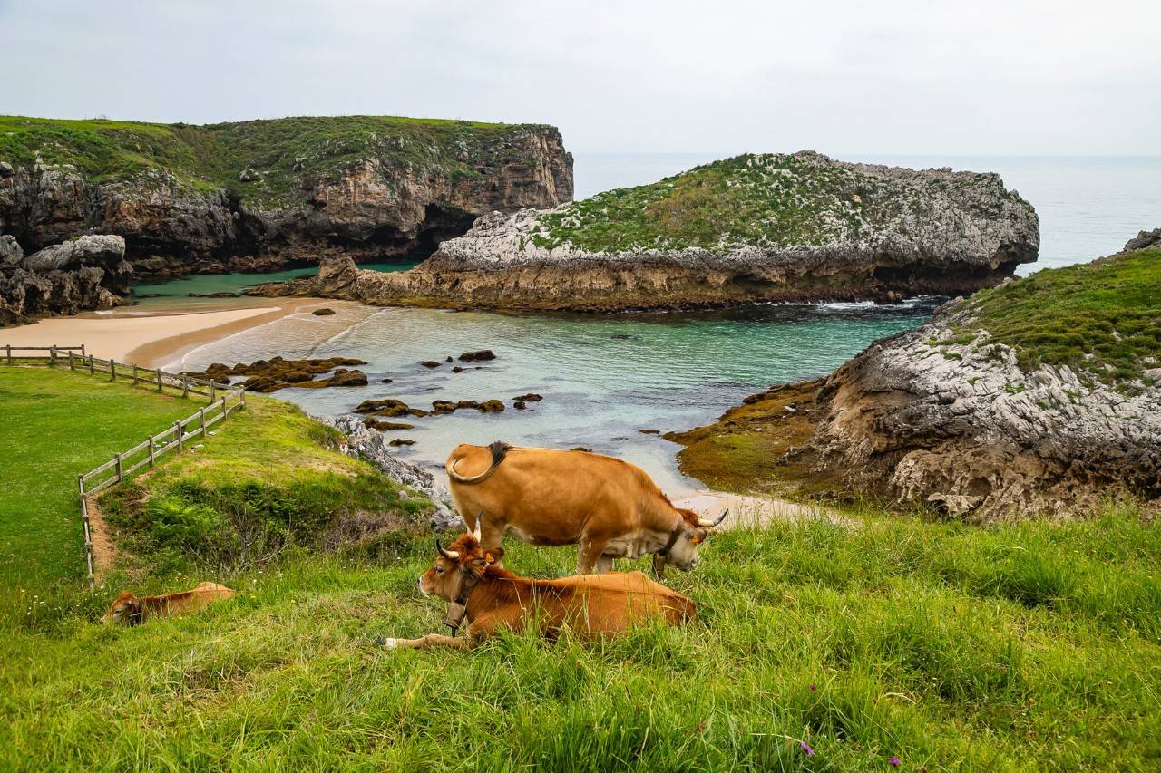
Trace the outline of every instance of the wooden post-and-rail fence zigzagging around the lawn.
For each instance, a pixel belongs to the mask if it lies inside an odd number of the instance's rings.
[[[207,431],[218,421],[224,421],[235,411],[246,407],[246,390],[240,385],[216,384],[212,381],[192,378],[166,373],[160,368],[143,368],[124,364],[113,360],[102,360],[85,353],[82,346],[5,346],[7,364],[46,364],[49,367],[68,366],[70,370],[88,371],[92,375],[108,375],[109,381],[132,381],[135,386],[145,385],[158,392],[170,389],[182,397],[196,395],[209,398],[205,407],[172,426],[150,435],[128,450],[114,454],[104,464],[77,476],[77,490],[80,496],[81,523],[85,528],[85,563],[88,572],[88,585],[93,587],[93,535],[88,523],[88,496],[121,483],[143,467],[153,467],[157,460],[172,450],[181,453],[186,443],[197,438],[205,438]],[[17,352],[20,354],[13,354]],[[24,354],[38,352],[41,354]]]

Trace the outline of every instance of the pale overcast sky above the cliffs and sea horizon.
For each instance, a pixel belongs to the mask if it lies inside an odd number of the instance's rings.
[[[0,113],[551,123],[579,152],[1159,154],[1158,0],[0,0]]]

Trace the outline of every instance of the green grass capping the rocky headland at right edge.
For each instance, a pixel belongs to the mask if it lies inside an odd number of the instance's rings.
[[[1026,369],[1067,364],[1115,382],[1161,363],[1161,250],[1045,269],[968,303],[973,319],[958,327],[987,330]]]

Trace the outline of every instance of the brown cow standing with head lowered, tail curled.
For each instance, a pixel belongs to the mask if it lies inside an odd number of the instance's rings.
[[[675,507],[640,467],[589,451],[466,443],[445,469],[469,529],[482,514],[482,544],[499,546],[505,530],[532,544],[579,543],[578,575],[650,552],[658,576],[665,564],[690,571],[707,529],[726,518]]]

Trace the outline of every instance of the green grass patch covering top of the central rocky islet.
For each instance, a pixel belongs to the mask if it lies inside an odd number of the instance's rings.
[[[589,252],[817,246],[932,215],[924,192],[819,158],[748,153],[600,193],[542,215],[531,241]],[[995,175],[961,175],[952,185],[1015,196]]]

